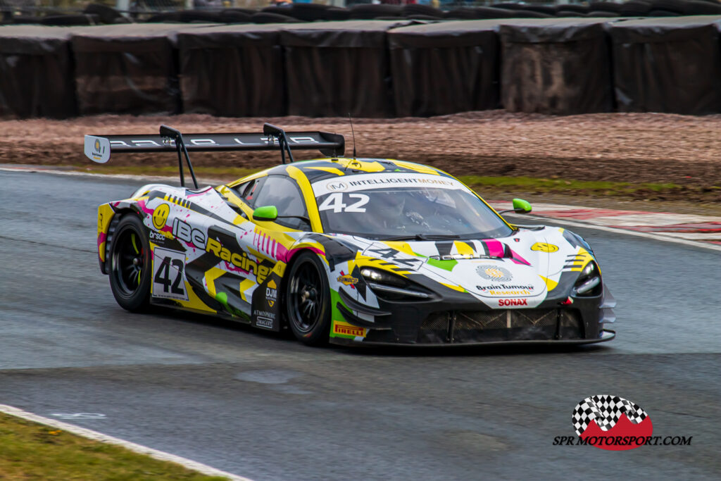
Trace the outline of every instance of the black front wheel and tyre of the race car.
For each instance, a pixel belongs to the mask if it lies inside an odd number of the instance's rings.
[[[307,345],[327,343],[330,332],[330,288],[321,260],[301,252],[288,273],[285,308],[293,335]]]

